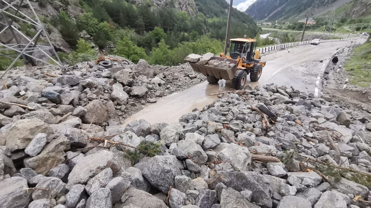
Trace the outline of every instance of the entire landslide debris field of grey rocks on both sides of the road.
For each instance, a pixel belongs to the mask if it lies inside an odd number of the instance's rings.
[[[124,126],[146,103],[206,77],[188,64],[113,64],[79,63],[66,75],[39,67],[7,74],[0,207],[370,206],[366,108],[247,85],[178,122]]]

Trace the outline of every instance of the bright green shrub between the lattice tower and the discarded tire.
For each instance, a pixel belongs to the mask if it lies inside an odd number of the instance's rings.
[[[82,61],[95,60],[96,57],[96,51],[91,48],[91,45],[86,43],[85,40],[80,39],[78,40],[77,50],[70,54],[69,60],[71,61],[71,65],[73,65]]]

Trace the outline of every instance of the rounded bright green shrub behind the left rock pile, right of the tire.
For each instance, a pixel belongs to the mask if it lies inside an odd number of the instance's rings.
[[[131,60],[133,63],[138,63],[142,59],[147,59],[148,56],[144,48],[136,46],[129,38],[125,37],[124,40],[118,41],[116,44],[115,54]]]

